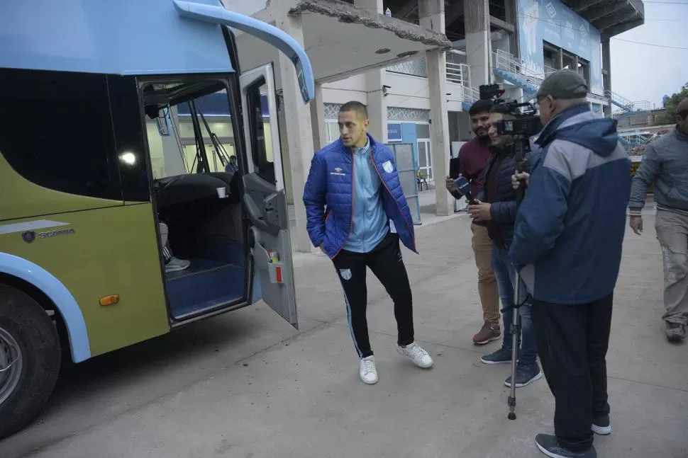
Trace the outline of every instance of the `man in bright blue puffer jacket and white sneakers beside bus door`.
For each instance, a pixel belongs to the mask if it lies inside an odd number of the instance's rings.
[[[365,105],[339,110],[340,139],[316,152],[304,189],[309,236],[331,258],[344,290],[351,336],[360,358],[359,376],[377,383],[366,320],[366,268],[394,302],[399,331],[396,350],[416,365],[433,360],[414,340],[411,285],[399,240],[416,251],[414,226],[401,190],[392,151],[367,133]]]

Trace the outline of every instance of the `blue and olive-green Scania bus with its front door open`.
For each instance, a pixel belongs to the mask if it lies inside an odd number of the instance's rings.
[[[0,438],[60,367],[264,301],[298,327],[272,64],[219,0],[0,6]],[[239,30],[240,32],[238,32]]]

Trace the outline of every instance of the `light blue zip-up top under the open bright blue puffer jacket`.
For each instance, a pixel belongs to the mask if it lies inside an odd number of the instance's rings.
[[[370,139],[353,154],[353,222],[343,248],[356,253],[372,251],[389,232],[387,214],[382,208],[382,181],[370,157]]]

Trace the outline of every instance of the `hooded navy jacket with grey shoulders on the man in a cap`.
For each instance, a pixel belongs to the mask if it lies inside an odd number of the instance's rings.
[[[621,265],[631,161],[616,120],[587,105],[548,122],[509,256],[533,299],[587,304],[614,291]]]

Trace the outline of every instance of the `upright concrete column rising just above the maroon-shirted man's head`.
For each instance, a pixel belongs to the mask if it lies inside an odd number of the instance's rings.
[[[430,0],[419,0],[418,5],[423,1]],[[492,40],[489,32],[488,0],[464,0],[463,16],[471,84],[477,88],[492,81]]]

